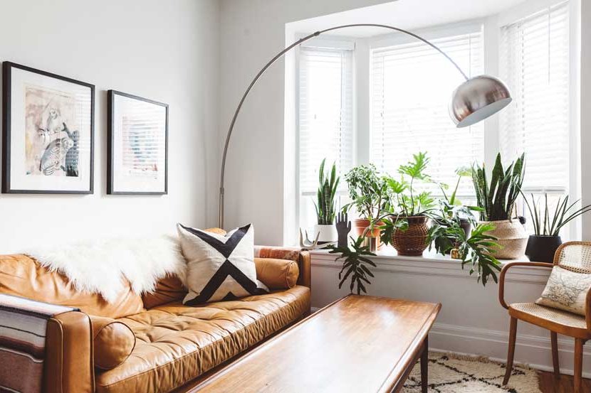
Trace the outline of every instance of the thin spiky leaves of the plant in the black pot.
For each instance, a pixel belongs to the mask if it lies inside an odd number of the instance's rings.
[[[530,212],[531,220],[533,222],[534,235],[538,236],[558,236],[560,229],[567,225],[570,221],[585,214],[591,210],[591,205],[583,206],[582,208],[572,210],[577,206],[580,200],[575,200],[574,203],[568,204],[568,195],[563,199],[558,197],[558,203],[553,211],[548,208],[548,194],[544,194],[544,205],[540,206],[539,200],[536,202],[533,194],[531,194],[531,205],[528,198],[523,195],[525,205],[527,205]]]

